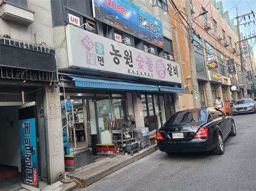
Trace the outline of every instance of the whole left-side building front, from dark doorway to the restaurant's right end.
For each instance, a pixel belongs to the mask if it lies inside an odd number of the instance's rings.
[[[0,1],[0,35],[0,164],[28,189],[64,178],[91,135],[117,151],[112,130],[157,130],[180,110],[167,1]]]

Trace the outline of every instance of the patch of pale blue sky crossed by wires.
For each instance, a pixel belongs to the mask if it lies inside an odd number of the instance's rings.
[[[235,18],[237,16],[236,8],[238,8],[238,15],[244,15],[246,13],[251,12],[251,10],[256,12],[256,0],[222,0],[222,2],[223,2],[224,11],[229,12],[230,19]],[[251,20],[255,20],[252,15],[250,17],[251,17]],[[255,18],[256,18],[256,15],[255,15]],[[241,23],[246,23],[249,21],[250,20],[247,16],[246,21],[242,20]],[[236,20],[234,23],[235,25],[237,24]],[[256,24],[256,20],[255,20],[255,24]],[[252,33],[255,36],[255,31],[256,31],[256,25],[254,25],[253,23],[250,23],[250,26],[246,25],[246,27],[244,25],[240,26],[240,32],[242,32],[244,36],[245,34],[247,36],[248,34],[250,34],[250,32],[251,32],[251,36],[252,36]],[[254,55],[254,58],[256,58],[256,38],[252,40],[248,40],[248,43],[254,45],[253,55]]]

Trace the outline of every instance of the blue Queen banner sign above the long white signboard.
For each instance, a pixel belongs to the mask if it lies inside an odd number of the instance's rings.
[[[151,44],[164,47],[160,20],[129,0],[94,0],[93,17]]]

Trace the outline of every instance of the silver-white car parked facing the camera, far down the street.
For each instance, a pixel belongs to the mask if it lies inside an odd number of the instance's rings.
[[[232,112],[234,114],[256,112],[256,102],[251,98],[245,98],[235,101]]]

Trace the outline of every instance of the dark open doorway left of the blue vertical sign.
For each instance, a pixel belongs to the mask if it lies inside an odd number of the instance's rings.
[[[0,189],[21,182],[21,155],[17,106],[0,107]]]

